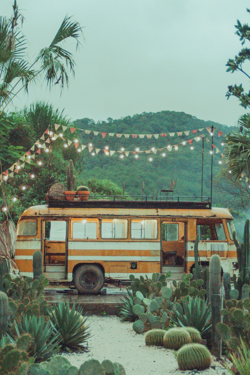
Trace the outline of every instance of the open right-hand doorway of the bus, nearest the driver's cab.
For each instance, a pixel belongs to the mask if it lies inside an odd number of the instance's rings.
[[[161,223],[162,267],[180,267],[184,270],[186,255],[186,222],[163,221]]]

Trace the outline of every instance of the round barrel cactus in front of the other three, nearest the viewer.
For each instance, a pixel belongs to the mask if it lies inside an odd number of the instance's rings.
[[[187,344],[177,352],[177,362],[180,370],[205,370],[211,365],[211,354],[201,344]]]

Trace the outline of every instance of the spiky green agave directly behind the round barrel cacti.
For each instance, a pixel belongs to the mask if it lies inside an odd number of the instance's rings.
[[[211,332],[211,306],[205,297],[186,297],[182,301],[183,314],[175,309],[170,317],[179,327],[195,327],[203,339],[208,339]]]

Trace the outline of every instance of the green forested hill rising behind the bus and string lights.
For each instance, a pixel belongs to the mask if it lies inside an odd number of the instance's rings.
[[[133,134],[151,134],[151,133],[168,133],[179,132],[184,130],[194,130],[212,125],[217,129],[214,132],[214,144],[218,148],[222,148],[220,143],[222,136],[218,138],[218,130],[228,134],[232,128],[212,121],[200,120],[192,115],[184,112],[161,111],[157,113],[142,113],[119,119],[108,118],[107,121],[95,122],[89,118],[76,120],[74,123],[81,129],[90,129],[100,132],[109,133],[133,133]],[[117,138],[116,136],[108,136],[102,138],[102,135],[93,136],[93,133],[86,135],[81,132],[84,144],[93,143],[93,147],[104,148],[106,145],[111,150],[120,150],[124,147],[127,151],[134,151],[136,147],[140,150],[148,150],[151,147],[166,147],[168,144],[174,145],[182,141],[198,135],[190,132],[189,136],[167,136],[166,138],[159,136],[158,139],[152,137],[148,139],[132,138],[125,139],[124,136]],[[210,134],[204,129],[201,134],[211,139]],[[210,195],[210,177],[211,177],[211,142],[204,142],[204,195]],[[162,157],[160,152],[151,153],[153,161],[148,160],[149,155],[139,154],[139,158],[135,159],[133,154],[124,159],[119,158],[119,153],[113,156],[106,156],[101,152],[96,156],[87,156],[84,158],[84,169],[81,172],[82,179],[87,180],[90,177],[107,178],[114,181],[120,187],[125,183],[125,189],[130,194],[142,194],[142,182],[144,181],[145,193],[151,194],[160,192],[160,189],[168,188],[171,180],[177,179],[175,195],[183,196],[199,196],[201,195],[201,160],[202,160],[202,141],[193,141],[194,150],[190,150],[190,145],[180,145],[175,151],[174,147],[169,152],[165,150],[166,156]],[[214,176],[219,172],[220,153],[214,153],[213,170]],[[220,192],[214,188],[213,196],[215,201],[221,201]]]

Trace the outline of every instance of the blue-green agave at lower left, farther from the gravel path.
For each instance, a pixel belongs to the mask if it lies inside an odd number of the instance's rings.
[[[37,318],[35,315],[24,315],[20,323],[15,324],[18,337],[29,333],[32,338],[30,345],[30,356],[35,362],[46,361],[60,350],[59,333],[52,326],[51,321],[45,321],[43,316]]]

